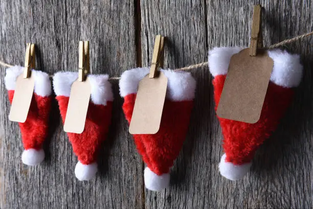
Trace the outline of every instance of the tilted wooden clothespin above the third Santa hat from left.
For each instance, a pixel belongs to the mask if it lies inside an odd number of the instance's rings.
[[[155,37],[154,42],[149,78],[155,78],[158,75],[158,67],[163,67],[163,64],[164,64],[164,37],[161,35],[157,35],[157,37]]]

